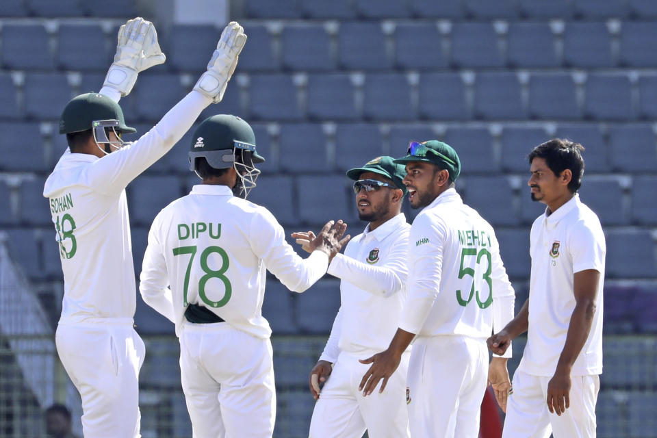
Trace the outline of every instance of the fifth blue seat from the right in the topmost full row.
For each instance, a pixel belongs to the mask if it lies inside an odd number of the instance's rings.
[[[395,47],[395,64],[399,68],[422,70],[448,66],[435,23],[397,25]]]

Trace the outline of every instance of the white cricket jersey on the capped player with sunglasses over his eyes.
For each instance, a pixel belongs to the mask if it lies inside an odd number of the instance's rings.
[[[340,306],[320,359],[335,362],[339,352],[380,352],[399,326],[408,275],[409,231],[403,213],[352,238],[329,274],[342,279]]]

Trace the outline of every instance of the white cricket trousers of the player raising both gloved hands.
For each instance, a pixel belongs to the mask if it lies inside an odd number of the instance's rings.
[[[145,348],[132,318],[60,323],[55,344],[82,399],[84,437],[140,437],[139,370]]]

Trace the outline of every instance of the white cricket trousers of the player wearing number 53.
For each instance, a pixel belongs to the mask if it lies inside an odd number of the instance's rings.
[[[477,438],[487,381],[484,339],[417,337],[409,363],[411,438]]]

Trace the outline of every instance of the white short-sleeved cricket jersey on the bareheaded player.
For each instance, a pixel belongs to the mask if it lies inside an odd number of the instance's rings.
[[[550,216],[544,213],[534,220],[529,252],[532,257],[529,328],[519,369],[534,376],[554,375],[576,304],[574,273],[594,269],[600,272],[600,283],[593,323],[571,375],[601,374],[606,245],[600,220],[575,194]]]

